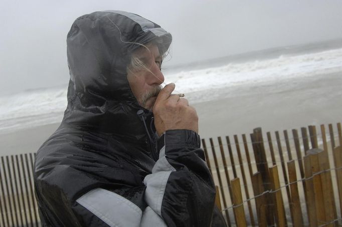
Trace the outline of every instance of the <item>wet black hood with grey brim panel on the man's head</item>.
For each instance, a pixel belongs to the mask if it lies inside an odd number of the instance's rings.
[[[144,137],[143,123],[136,114],[143,108],[131,92],[126,67],[139,44],[152,40],[165,52],[172,36],[135,14],[104,11],[76,19],[67,36],[70,81],[63,123]]]

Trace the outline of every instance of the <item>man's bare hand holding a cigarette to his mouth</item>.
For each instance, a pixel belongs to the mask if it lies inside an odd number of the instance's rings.
[[[187,99],[172,95],[176,85],[166,85],[155,100],[152,112],[158,136],[170,129],[189,129],[198,132],[198,116]]]

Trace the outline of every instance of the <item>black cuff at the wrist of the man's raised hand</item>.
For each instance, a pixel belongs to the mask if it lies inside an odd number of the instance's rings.
[[[201,147],[201,138],[195,131],[187,129],[167,130],[157,141],[157,148],[160,150],[164,145],[167,150],[173,148],[191,148]]]

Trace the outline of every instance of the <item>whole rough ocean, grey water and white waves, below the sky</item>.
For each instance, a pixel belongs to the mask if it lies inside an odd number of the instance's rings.
[[[295,78],[342,73],[342,41],[281,47],[165,69],[190,103],[287,88]],[[272,86],[267,86],[272,84]],[[295,84],[293,84],[295,86]],[[253,87],[255,89],[244,89]],[[258,89],[259,88],[259,89]],[[67,85],[0,97],[0,134],[58,123],[67,106]]]

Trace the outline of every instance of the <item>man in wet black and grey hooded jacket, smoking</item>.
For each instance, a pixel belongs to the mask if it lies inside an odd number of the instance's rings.
[[[36,156],[44,226],[225,226],[196,111],[160,89],[171,40],[126,12],[74,22],[68,107]]]

